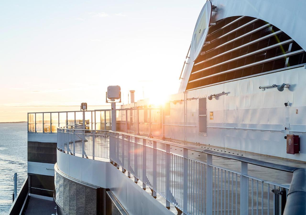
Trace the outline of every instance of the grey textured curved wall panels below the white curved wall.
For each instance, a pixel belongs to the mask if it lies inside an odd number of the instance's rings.
[[[97,190],[71,181],[55,172],[56,202],[64,214],[96,214]]]

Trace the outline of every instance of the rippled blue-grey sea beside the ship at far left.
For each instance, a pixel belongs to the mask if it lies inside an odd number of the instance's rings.
[[[13,202],[14,172],[17,192],[27,176],[27,145],[27,123],[0,123],[0,214]]]

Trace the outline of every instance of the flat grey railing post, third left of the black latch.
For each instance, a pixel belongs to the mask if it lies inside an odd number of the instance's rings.
[[[188,211],[188,149],[183,149],[183,212]]]

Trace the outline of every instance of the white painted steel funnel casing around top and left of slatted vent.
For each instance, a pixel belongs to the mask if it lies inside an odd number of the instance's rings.
[[[217,6],[217,12],[212,12],[211,22],[234,16],[258,18],[282,30],[306,50],[306,40],[304,39],[304,35],[306,35],[305,1],[293,0],[289,4],[286,0],[277,2],[274,0],[214,0],[212,4]],[[185,91],[193,64],[194,62],[189,58],[179,92]]]

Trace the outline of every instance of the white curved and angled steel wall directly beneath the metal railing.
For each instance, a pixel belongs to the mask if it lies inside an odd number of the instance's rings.
[[[57,168],[81,183],[109,188],[129,214],[172,214],[109,162],[81,158],[57,150]]]

